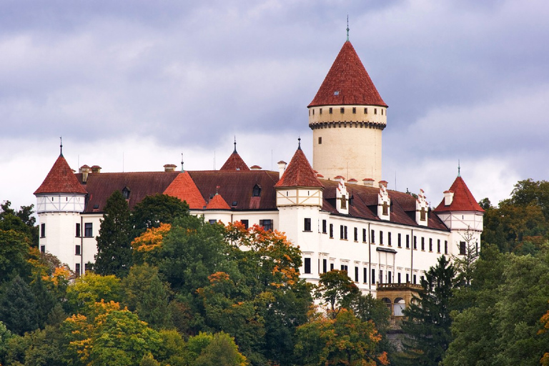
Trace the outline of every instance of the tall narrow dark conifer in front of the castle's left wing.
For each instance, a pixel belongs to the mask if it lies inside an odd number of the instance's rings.
[[[128,203],[122,192],[114,191],[107,199],[95,255],[95,272],[124,277],[132,267],[132,227]]]

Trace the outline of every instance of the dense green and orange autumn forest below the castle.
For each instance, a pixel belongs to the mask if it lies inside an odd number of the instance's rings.
[[[397,349],[390,310],[344,271],[301,280],[280,232],[205,223],[161,194],[129,212],[115,192],[76,277],[37,249],[33,207],[5,201],[0,364],[549,365],[549,183],[480,204],[480,252],[426,273]]]

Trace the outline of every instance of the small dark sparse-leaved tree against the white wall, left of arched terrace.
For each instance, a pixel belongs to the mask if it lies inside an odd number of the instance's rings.
[[[342,307],[350,307],[352,300],[359,294],[360,290],[349,278],[347,271],[332,269],[320,274],[315,297],[324,300],[330,305],[330,310],[337,314]]]

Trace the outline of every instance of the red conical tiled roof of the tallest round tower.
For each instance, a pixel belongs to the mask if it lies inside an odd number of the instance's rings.
[[[387,107],[350,41],[343,44],[308,107],[344,104]]]

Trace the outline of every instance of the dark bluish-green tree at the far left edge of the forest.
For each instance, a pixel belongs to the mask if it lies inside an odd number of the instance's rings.
[[[0,319],[11,332],[18,335],[38,327],[36,298],[29,285],[19,276],[4,286],[0,297]]]

